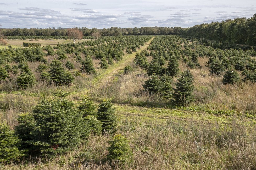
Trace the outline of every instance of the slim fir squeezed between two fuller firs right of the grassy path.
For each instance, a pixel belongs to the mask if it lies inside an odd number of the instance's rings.
[[[172,97],[172,77],[163,75],[160,77],[162,81],[161,94],[164,99],[171,99]]]

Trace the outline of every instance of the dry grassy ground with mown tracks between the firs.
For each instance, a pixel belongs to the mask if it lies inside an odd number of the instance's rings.
[[[79,105],[84,95],[87,95],[97,108],[104,99],[110,99],[114,103],[118,124],[116,133],[124,135],[129,140],[133,155],[130,158],[131,162],[110,163],[107,160],[107,148],[110,146],[107,141],[111,140],[114,134],[91,133],[76,149],[71,149],[65,154],[57,154],[51,159],[43,156],[24,157],[9,165],[0,164],[0,169],[256,169],[254,82],[222,84],[224,73],[220,76],[211,75],[207,66],[209,57],[206,55],[197,56],[200,67],[190,68],[188,60],[191,60],[191,56],[184,51],[196,51],[193,46],[196,42],[187,41],[176,35],[146,37],[144,45],[137,47],[136,52],[131,54],[125,53],[129,45],[126,44],[121,51],[124,53],[122,58],[114,60],[107,69],[102,69],[100,59],[96,57],[104,56],[101,52],[113,50],[112,47],[118,43],[120,46],[126,43],[121,37],[111,38],[115,40],[95,40],[96,45],[88,44],[89,47],[86,45],[88,48],[85,49],[84,46],[73,47],[72,44],[60,48],[64,52],[74,50],[74,53],[67,53],[67,57],[60,60],[64,70],[68,70],[65,64],[70,61],[74,68],[68,71],[79,71],[82,62],[77,61],[77,58],[85,60],[87,54],[92,58],[92,65],[96,71],[95,74],[81,72],[80,76],[74,77],[73,83],[62,88],[69,92],[66,99],[74,102],[75,106]],[[131,44],[133,38],[130,38]],[[139,38],[142,39],[140,36]],[[165,40],[167,38],[168,41]],[[163,40],[166,44],[161,44]],[[48,43],[44,45],[51,43],[41,41]],[[57,42],[54,40],[52,43]],[[170,42],[172,44],[168,44]],[[62,43],[67,42],[63,40]],[[154,47],[156,48],[153,50]],[[189,69],[194,77],[195,100],[186,106],[173,105],[170,99],[163,99],[160,92],[150,94],[145,90],[142,84],[150,77],[147,73],[148,68],[142,68],[134,63],[136,54],[151,51],[161,54],[164,50],[173,52],[174,49],[167,49],[172,47],[179,47],[179,52],[184,52],[180,55],[175,54],[179,58],[180,71]],[[79,54],[75,54],[78,53],[75,48],[77,51],[80,50]],[[86,51],[89,48],[91,51]],[[209,47],[197,48],[200,51],[208,50]],[[209,51],[219,52],[211,48]],[[224,54],[224,51],[221,52]],[[146,60],[151,63],[158,57],[159,55],[151,54]],[[46,71],[50,73],[51,63],[55,59],[59,61],[59,56],[54,54],[43,58],[46,60]],[[170,58],[164,59],[162,66],[167,67],[169,60]],[[8,64],[11,68],[17,65],[14,61]],[[45,95],[47,100],[52,99],[52,92],[58,88],[58,85],[40,78],[40,72],[37,71],[39,64],[38,61],[27,62],[36,78],[36,83],[28,89],[17,87],[16,79],[19,74],[14,74],[13,71],[10,71],[8,81],[1,81],[0,123],[7,123],[11,129],[15,129],[19,124],[17,117],[20,113],[32,112],[40,101],[38,96]],[[124,73],[126,66],[131,66],[132,69],[128,73]],[[241,75],[241,71],[238,73]],[[171,88],[175,87],[178,78],[179,76],[173,77]]]

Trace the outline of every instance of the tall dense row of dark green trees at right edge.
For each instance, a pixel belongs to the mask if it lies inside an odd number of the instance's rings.
[[[231,44],[256,45],[256,14],[251,18],[235,18],[221,22],[203,23],[176,30],[176,34],[199,37]]]

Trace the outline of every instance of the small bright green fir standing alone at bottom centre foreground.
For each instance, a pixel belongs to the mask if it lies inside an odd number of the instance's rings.
[[[115,135],[112,140],[108,141],[110,146],[107,158],[110,161],[130,162],[132,157],[129,141],[123,135]]]

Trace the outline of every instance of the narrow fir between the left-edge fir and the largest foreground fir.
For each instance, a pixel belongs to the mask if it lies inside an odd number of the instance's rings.
[[[31,147],[28,141],[33,139],[31,132],[35,128],[35,119],[32,114],[21,113],[17,120],[19,124],[15,126],[15,134],[21,139],[20,148],[27,151]]]

